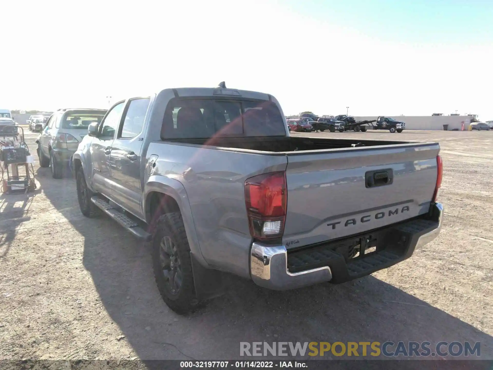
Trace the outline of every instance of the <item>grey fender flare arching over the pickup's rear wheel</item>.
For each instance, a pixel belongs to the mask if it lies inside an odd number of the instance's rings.
[[[183,223],[185,225],[185,231],[188,238],[188,244],[190,246],[190,252],[193,257],[202,264],[204,267],[209,268],[209,264],[204,259],[202,252],[199,246],[199,240],[197,238],[197,232],[195,230],[195,223],[193,222],[192,210],[190,208],[190,202],[188,200],[188,196],[185,191],[185,187],[178,180],[170,179],[166,176],[160,175],[152,175],[149,176],[149,179],[144,185],[144,192],[142,197],[142,210],[143,214],[146,217],[146,222],[149,223],[150,220],[147,220],[147,195],[150,192],[159,192],[162,194],[166,194],[175,199],[176,203],[181,212],[181,217],[183,218]]]

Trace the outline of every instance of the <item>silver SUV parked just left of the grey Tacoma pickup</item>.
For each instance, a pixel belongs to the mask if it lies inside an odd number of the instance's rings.
[[[53,178],[61,179],[89,124],[101,122],[105,114],[104,109],[59,109],[53,113],[36,140],[39,165],[51,167]]]

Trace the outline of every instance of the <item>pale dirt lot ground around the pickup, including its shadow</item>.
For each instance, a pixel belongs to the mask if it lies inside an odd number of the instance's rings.
[[[440,142],[440,236],[342,285],[271,292],[231,277],[227,294],[179,316],[159,296],[149,245],[84,218],[74,180],[36,157],[36,191],[0,196],[0,359],[238,359],[240,341],[337,340],[480,341],[493,359],[493,131],[293,135]]]

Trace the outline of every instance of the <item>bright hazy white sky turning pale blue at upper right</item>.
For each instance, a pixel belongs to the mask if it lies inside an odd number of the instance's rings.
[[[492,0],[19,0],[1,12],[0,108],[107,107],[225,80],[286,114],[493,119]]]

